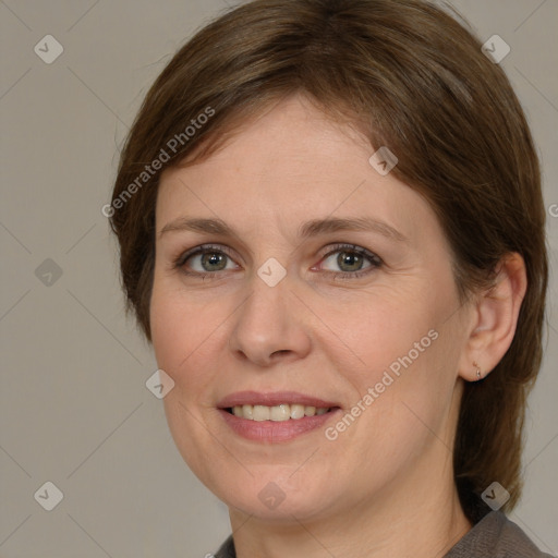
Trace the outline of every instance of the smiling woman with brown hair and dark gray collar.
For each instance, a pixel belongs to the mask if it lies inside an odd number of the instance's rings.
[[[504,514],[539,182],[504,72],[430,3],[256,0],[174,56],[108,214],[218,557],[546,556]]]

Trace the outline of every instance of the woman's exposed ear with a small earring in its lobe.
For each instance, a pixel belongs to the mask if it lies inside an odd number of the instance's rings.
[[[471,330],[459,368],[463,379],[484,378],[506,354],[526,288],[525,262],[515,252],[507,254],[497,265],[495,283],[474,299]]]

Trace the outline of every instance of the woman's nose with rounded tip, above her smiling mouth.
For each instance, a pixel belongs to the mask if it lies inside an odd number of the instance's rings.
[[[269,287],[254,274],[250,295],[233,314],[229,347],[235,357],[269,367],[310,352],[308,310],[290,283],[287,276]]]

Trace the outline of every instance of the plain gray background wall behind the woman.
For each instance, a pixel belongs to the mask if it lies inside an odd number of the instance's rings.
[[[558,2],[452,3],[483,40],[498,34],[511,46],[501,65],[527,112],[546,205],[558,215]],[[100,213],[148,86],[226,9],[221,0],[0,0],[2,558],[204,557],[229,533],[225,505],[183,463],[162,402],[145,387],[157,366],[123,314]],[[51,64],[34,51],[47,34],[64,49]],[[558,217],[549,215],[547,229],[557,269]],[[554,274],[548,349],[530,399],[525,494],[511,514],[551,554],[556,302]],[[64,495],[50,512],[34,498],[47,481]]]

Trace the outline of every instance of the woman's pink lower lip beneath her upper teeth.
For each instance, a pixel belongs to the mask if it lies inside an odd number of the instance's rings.
[[[290,418],[289,421],[251,421],[241,418],[223,409],[219,409],[225,422],[239,436],[254,441],[276,442],[288,441],[303,434],[316,430],[336,416],[341,410],[336,409],[320,415]]]

